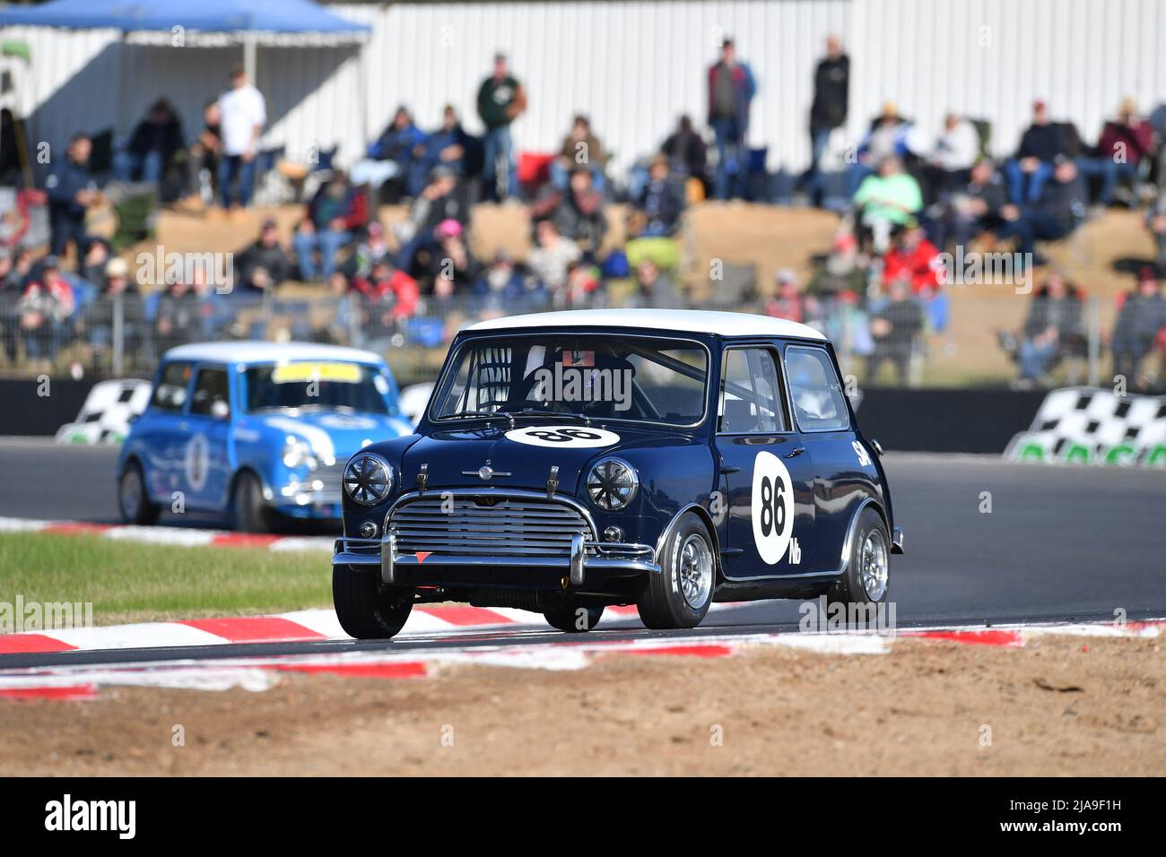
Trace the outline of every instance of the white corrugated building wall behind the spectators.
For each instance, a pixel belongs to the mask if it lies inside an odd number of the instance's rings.
[[[351,162],[409,105],[423,127],[445,103],[480,131],[475,96],[496,50],[526,84],[529,111],[519,148],[557,149],[576,112],[619,166],[651,152],[681,113],[705,114],[705,73],[721,35],[732,35],[759,93],[750,142],[770,167],[800,170],[812,77],[828,33],[851,55],[848,136],[857,139],[885,100],[925,136],[943,113],[988,119],[993,150],[1012,150],[1031,103],[1093,139],[1125,94],[1149,112],[1166,101],[1166,3],[1161,0],[666,0],[335,5],[373,27],[356,48],[261,48],[268,143],[303,157],[340,145]],[[12,28],[29,40],[34,141],[63,145],[77,129],[128,134],[147,104],[168,94],[188,134],[203,101],[241,57],[229,48],[124,47],[112,31]],[[117,93],[122,98],[119,100]]]

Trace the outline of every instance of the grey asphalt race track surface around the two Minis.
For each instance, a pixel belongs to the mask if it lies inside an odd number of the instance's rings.
[[[0,441],[0,517],[115,522],[117,450]],[[900,627],[1111,620],[1166,616],[1166,477],[1104,468],[1018,465],[995,457],[888,454],[884,459],[906,555],[892,563]],[[989,492],[991,512],[981,512]],[[184,526],[223,526],[183,515]],[[326,563],[326,557],[321,557]],[[2,574],[2,570],[0,570]],[[605,619],[590,638],[661,638],[794,630],[796,602],[759,602],[694,631],[653,632]],[[6,655],[0,668],[180,658],[338,653],[391,647],[561,642],[541,630],[463,632],[384,642],[295,642]]]

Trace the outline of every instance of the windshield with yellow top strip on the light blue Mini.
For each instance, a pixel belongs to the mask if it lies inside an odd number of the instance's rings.
[[[288,408],[391,414],[385,371],[358,363],[285,363],[246,371],[247,410]]]

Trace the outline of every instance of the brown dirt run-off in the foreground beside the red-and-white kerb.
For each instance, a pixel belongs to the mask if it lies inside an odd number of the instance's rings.
[[[0,771],[1161,775],[1164,711],[1157,639],[900,639],[880,655],[764,646],[728,659],[612,654],[577,672],[288,674],[266,693],[5,700]],[[173,745],[178,725],[184,746]]]

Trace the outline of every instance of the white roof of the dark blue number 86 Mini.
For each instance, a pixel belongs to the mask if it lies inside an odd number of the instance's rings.
[[[490,318],[468,330],[518,330],[522,328],[638,328],[644,331],[682,330],[687,333],[721,336],[781,336],[822,339],[821,332],[798,322],[749,312],[712,312],[698,309],[573,309]]]

